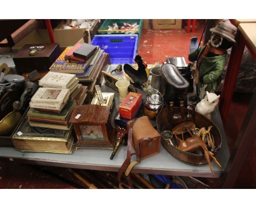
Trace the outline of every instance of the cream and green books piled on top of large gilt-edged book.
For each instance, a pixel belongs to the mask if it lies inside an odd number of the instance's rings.
[[[48,72],[39,81],[30,101],[28,123],[33,127],[70,130],[69,115],[86,97],[86,86],[78,84],[75,75]]]

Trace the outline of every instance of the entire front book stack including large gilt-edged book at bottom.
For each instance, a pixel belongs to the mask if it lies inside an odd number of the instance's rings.
[[[74,139],[69,118],[74,107],[83,103],[86,86],[72,74],[48,72],[39,81],[30,109],[13,136],[21,151],[72,153]]]

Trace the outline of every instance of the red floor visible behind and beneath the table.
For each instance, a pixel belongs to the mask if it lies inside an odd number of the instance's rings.
[[[183,56],[188,62],[190,38],[200,39],[203,21],[197,21],[195,33],[181,30],[143,30],[138,53],[148,63],[162,62],[167,56]],[[229,147],[232,149],[235,139],[245,117],[251,95],[235,94],[226,121],[225,132]],[[256,188],[256,143],[247,157],[247,161],[238,176],[235,188]],[[43,167],[51,172],[79,183],[65,168]],[[77,170],[83,174],[82,170]],[[212,188],[217,188],[219,179],[203,179]],[[75,188],[59,179],[45,174],[28,164],[18,164],[11,161],[0,161],[0,188]]]

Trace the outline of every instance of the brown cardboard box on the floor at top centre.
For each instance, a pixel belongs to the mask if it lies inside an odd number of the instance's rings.
[[[153,20],[153,29],[181,29],[182,28],[182,20]]]

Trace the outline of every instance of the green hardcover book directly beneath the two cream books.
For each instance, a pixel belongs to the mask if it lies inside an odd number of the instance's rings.
[[[52,119],[52,120],[60,120],[60,121],[66,121],[70,117],[74,107],[75,107],[75,101],[74,100],[68,100],[65,107],[62,109],[62,111],[59,114],[51,113],[51,112],[41,112],[37,111],[34,108],[30,108],[27,112],[28,117],[34,117],[34,118],[42,118],[42,119]]]

